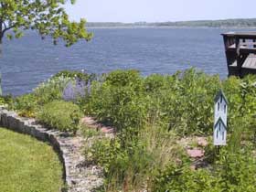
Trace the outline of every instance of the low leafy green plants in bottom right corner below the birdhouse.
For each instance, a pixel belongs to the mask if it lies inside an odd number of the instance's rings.
[[[188,165],[168,165],[155,176],[153,191],[255,191],[256,161],[250,150],[221,150],[212,170],[192,170]]]

